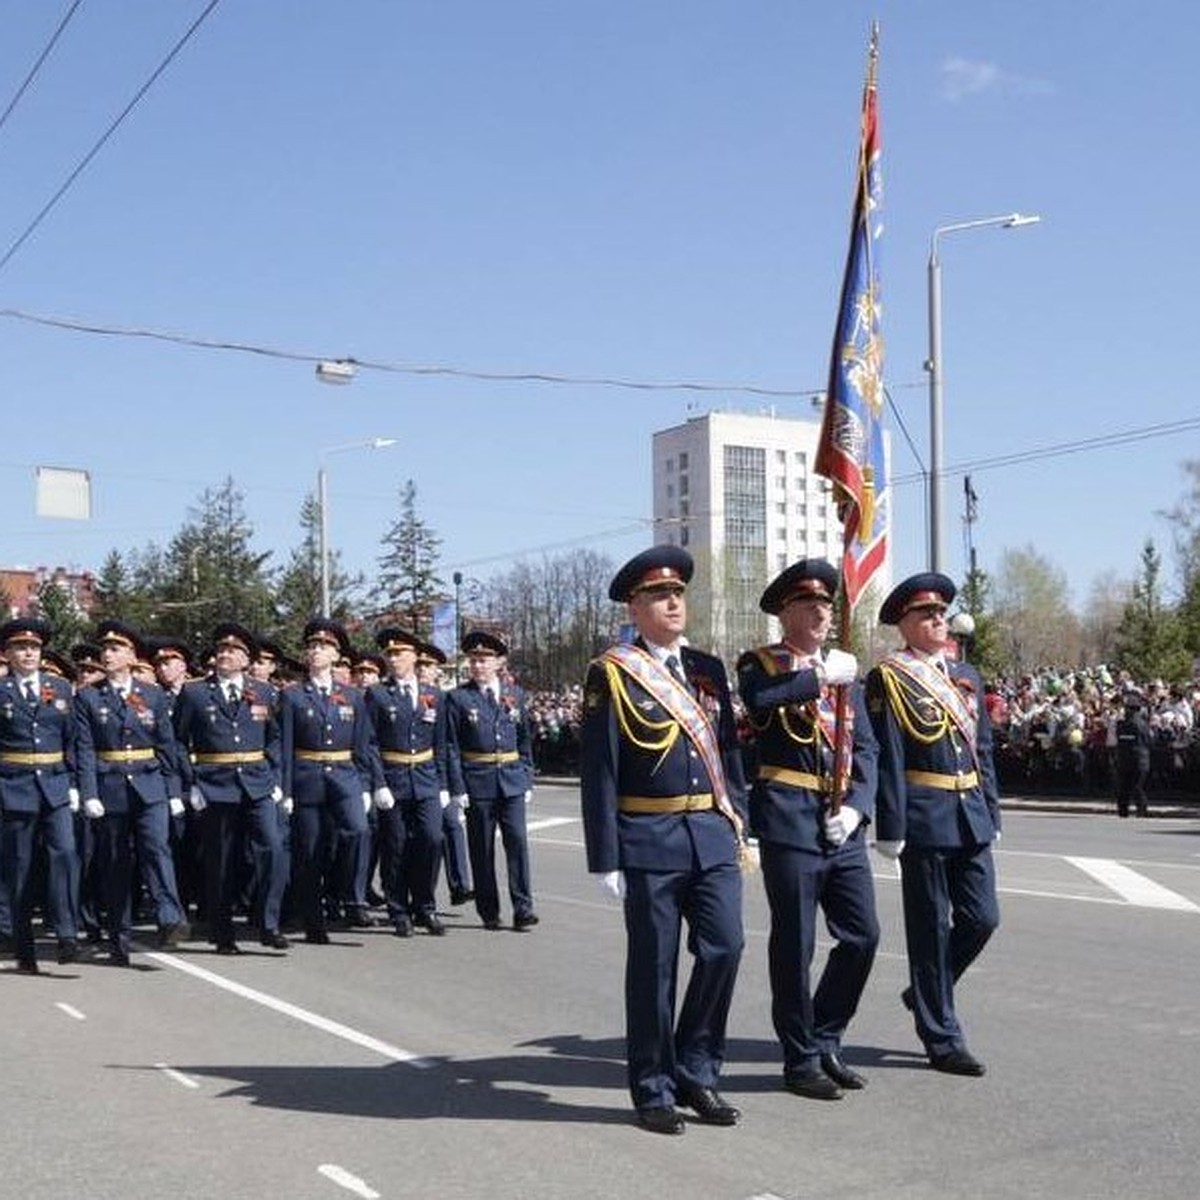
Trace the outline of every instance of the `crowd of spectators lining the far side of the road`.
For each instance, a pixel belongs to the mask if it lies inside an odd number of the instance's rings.
[[[1002,792],[1111,797],[1116,725],[1136,706],[1153,734],[1148,791],[1200,797],[1200,683],[1135,680],[1105,666],[1046,670],[988,684],[986,703]],[[530,695],[540,774],[578,774],[582,718],[578,684]]]

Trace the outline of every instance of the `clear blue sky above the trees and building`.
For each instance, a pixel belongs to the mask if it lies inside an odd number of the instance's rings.
[[[0,2],[6,104],[62,13]],[[0,127],[0,254],[203,0],[84,0]],[[1200,421],[1193,5],[796,0],[224,0],[0,269],[0,308],[392,366],[823,386],[870,20],[881,23],[886,373],[928,457],[926,260],[947,236],[947,565],[961,475],[994,569],[1034,546],[1082,604],[1164,548]],[[0,562],[98,568],[166,542],[206,486],[263,548],[318,467],[370,570],[407,478],[446,574],[650,540],[650,433],[728,391],[361,371],[0,319]],[[774,402],[811,415],[809,398]],[[379,451],[323,454],[372,437]],[[37,466],[91,472],[89,523],[34,515]],[[895,575],[925,565],[894,433]]]

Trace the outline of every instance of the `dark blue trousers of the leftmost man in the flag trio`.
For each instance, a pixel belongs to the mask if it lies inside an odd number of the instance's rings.
[[[628,870],[625,884],[629,1092],[640,1109],[665,1108],[679,1088],[716,1086],[744,944],[742,871]],[[676,1020],[684,922],[695,961]]]

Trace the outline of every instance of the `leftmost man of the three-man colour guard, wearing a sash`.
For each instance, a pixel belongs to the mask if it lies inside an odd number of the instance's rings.
[[[582,730],[588,870],[624,896],[629,1091],[665,1134],[685,1129],[677,1102],[740,1117],[716,1082],[744,943],[745,784],[725,668],[680,644],[691,574],[686,551],[659,546],[613,577],[640,636],[589,666]],[[682,922],[695,964],[677,1019]]]

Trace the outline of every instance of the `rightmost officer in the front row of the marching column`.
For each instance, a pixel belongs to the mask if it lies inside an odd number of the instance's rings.
[[[538,924],[529,878],[526,805],[533,796],[533,739],[524,692],[500,678],[508,646],[473,630],[462,640],[470,679],[446,704],[446,778],[450,796],[467,810],[467,848],[475,877],[475,911],[485,929],[500,928],[496,883],[499,828],[512,901],[512,928]]]

